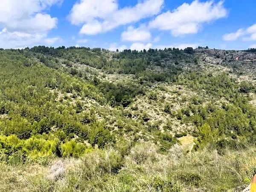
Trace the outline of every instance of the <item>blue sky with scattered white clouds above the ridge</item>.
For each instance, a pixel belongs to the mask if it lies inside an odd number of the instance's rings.
[[[1,0],[0,48],[256,48],[256,0]]]

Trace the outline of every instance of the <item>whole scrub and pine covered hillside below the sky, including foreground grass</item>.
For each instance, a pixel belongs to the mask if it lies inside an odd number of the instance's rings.
[[[1,49],[0,159],[0,191],[240,191],[256,51]]]

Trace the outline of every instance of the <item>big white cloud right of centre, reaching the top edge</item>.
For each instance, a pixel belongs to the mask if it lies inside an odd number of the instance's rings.
[[[214,3],[212,0],[200,2],[194,0],[191,4],[183,3],[174,11],[158,15],[149,23],[151,28],[167,30],[174,36],[195,34],[202,24],[227,16],[223,1]]]

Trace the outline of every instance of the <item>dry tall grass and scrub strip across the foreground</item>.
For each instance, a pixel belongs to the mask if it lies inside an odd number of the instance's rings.
[[[58,159],[59,160],[59,159]],[[256,168],[256,147],[221,154],[210,147],[166,154],[152,143],[132,148],[94,150],[80,158],[61,159],[65,172],[50,180],[49,166],[0,164],[0,191],[22,192],[235,192],[246,186]],[[56,160],[53,160],[54,163]]]

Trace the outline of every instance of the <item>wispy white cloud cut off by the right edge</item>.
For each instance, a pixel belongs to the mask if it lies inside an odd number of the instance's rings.
[[[240,37],[244,41],[256,41],[256,24],[248,27],[247,29],[239,29],[236,32],[223,35],[225,41],[236,41]]]

